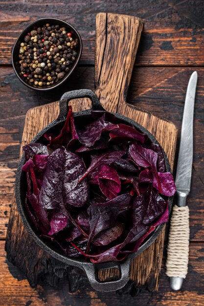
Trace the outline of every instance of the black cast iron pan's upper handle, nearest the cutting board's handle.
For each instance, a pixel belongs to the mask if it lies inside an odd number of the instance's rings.
[[[98,101],[97,96],[91,89],[72,90],[65,92],[60,98],[60,113],[57,118],[58,120],[66,119],[68,114],[68,102],[72,99],[78,98],[90,98],[92,103],[92,109],[105,110]]]

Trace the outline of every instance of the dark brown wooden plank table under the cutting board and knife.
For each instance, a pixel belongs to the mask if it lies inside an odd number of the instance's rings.
[[[68,282],[31,288],[21,271],[7,262],[6,228],[14,191],[20,142],[28,109],[58,100],[65,90],[94,89],[95,15],[130,14],[144,19],[144,31],[129,92],[129,103],[174,122],[181,131],[186,87],[198,71],[194,116],[194,159],[190,207],[189,272],[182,290],[170,290],[164,251],[159,292],[134,288],[99,293],[87,282],[74,293]],[[24,87],[11,67],[11,49],[29,23],[40,17],[59,17],[73,24],[83,40],[78,68],[66,86],[51,93]],[[0,2],[0,306],[191,306],[204,305],[204,1],[203,0],[75,0]],[[176,156],[177,157],[177,156]],[[74,277],[74,276],[73,276]]]

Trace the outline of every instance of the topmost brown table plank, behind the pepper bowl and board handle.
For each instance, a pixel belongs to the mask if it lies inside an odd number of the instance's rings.
[[[40,5],[40,9],[39,9]],[[195,10],[196,8],[196,10]],[[45,16],[73,24],[83,40],[82,64],[94,64],[95,16],[98,12],[134,15],[145,21],[136,65],[203,66],[202,0],[0,2],[0,64],[11,64],[16,38],[30,22]],[[25,13],[29,12],[29,14]]]

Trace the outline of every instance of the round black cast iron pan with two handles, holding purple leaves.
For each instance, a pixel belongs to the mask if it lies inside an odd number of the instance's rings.
[[[47,125],[42,131],[40,131],[31,142],[41,142],[45,143],[45,132],[52,132],[53,130],[55,133],[57,131],[60,131],[62,128],[66,117],[68,113],[68,102],[72,99],[76,98],[90,98],[92,103],[92,109],[94,110],[104,110],[100,102],[98,101],[95,93],[89,89],[80,89],[80,90],[73,90],[69,91],[63,94],[63,96],[60,99],[60,113],[56,120],[52,121],[49,125]],[[155,137],[147,131],[144,127],[140,126],[135,121],[122,116],[120,114],[115,113],[114,114],[116,118],[122,123],[127,124],[133,124],[136,129],[140,132],[146,133],[149,137],[149,141],[152,143],[158,144],[158,141],[155,139]],[[89,118],[91,117],[91,109],[78,111],[74,113],[75,120],[80,120],[80,122],[89,122]],[[164,154],[165,159],[165,165],[166,170],[168,172],[171,172],[171,167],[169,164],[169,161],[167,159],[166,154]],[[64,256],[60,249],[54,248],[53,246],[49,245],[49,243],[43,239],[40,239],[37,234],[35,233],[35,230],[32,226],[32,223],[29,220],[29,217],[27,216],[27,213],[24,208],[24,199],[25,199],[25,193],[26,193],[26,176],[25,173],[22,172],[22,167],[24,164],[24,156],[21,158],[21,161],[18,166],[18,171],[16,175],[16,202],[18,206],[19,213],[21,215],[21,218],[23,220],[23,224],[28,230],[29,234],[32,236],[32,238],[35,240],[35,242],[42,247],[49,255],[53,256],[57,260],[61,262],[65,262],[69,265],[77,266],[85,271],[87,274],[88,280],[91,284],[91,287],[98,291],[114,291],[122,288],[127,284],[130,276],[130,264],[133,261],[133,259],[139,255],[141,252],[143,252],[145,249],[147,249],[150,244],[152,244],[156,238],[158,237],[159,233],[161,232],[162,228],[164,227],[164,224],[160,224],[155,231],[149,235],[149,237],[144,240],[144,242],[141,244],[137,252],[129,254],[125,260],[122,262],[104,262],[104,263],[91,263],[88,261],[85,261],[83,259],[73,259],[70,257]],[[172,206],[172,200],[173,197],[168,198],[169,202],[169,211],[171,211]],[[98,279],[98,271],[103,269],[108,269],[112,267],[117,267],[120,271],[120,277],[119,279],[112,280],[109,282],[100,282]]]

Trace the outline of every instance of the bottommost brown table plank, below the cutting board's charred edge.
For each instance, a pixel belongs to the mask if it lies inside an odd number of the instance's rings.
[[[68,288],[71,284],[68,284],[68,279],[62,275],[60,282],[55,284],[54,288],[46,284],[31,288],[20,270],[6,260],[4,241],[0,241],[0,306],[202,306],[204,305],[204,292],[201,286],[204,284],[203,258],[204,243],[190,243],[188,275],[180,292],[170,290],[163,264],[158,293],[142,290],[136,296],[134,287],[128,287],[126,292],[120,291],[120,294],[118,292],[102,294],[91,290],[85,279],[83,281],[76,279],[75,274],[72,286],[74,282],[78,282],[80,288],[75,293],[69,293]]]

